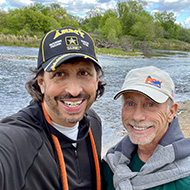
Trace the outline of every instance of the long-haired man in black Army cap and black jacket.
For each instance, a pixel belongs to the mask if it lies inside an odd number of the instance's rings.
[[[31,104],[0,123],[0,189],[100,190],[101,120],[89,108],[105,84],[93,40],[50,31],[33,72]]]

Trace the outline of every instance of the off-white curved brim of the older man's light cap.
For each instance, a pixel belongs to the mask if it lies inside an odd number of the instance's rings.
[[[146,86],[129,86],[127,88],[121,89],[121,91],[119,91],[114,96],[114,99],[117,100],[123,93],[129,91],[141,93],[157,103],[164,103],[169,98],[166,94],[160,92],[158,89],[149,88]]]

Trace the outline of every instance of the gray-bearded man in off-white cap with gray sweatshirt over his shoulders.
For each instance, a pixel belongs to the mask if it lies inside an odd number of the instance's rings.
[[[104,190],[190,189],[190,139],[175,116],[174,83],[149,66],[131,70],[121,90],[128,134],[102,161]]]

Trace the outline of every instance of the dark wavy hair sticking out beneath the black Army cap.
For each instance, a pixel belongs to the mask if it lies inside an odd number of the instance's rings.
[[[101,67],[99,67],[97,64],[94,64],[96,72],[99,74],[99,78],[101,78],[104,73]],[[41,89],[37,82],[37,76],[44,74],[44,69],[41,67],[39,69],[30,69],[32,73],[35,74],[35,77],[31,80],[29,80],[25,84],[25,88],[28,91],[28,93],[32,96],[33,101],[41,102],[43,100],[43,94],[41,93]],[[98,82],[98,89],[96,91],[96,98],[101,97],[104,94],[105,86],[106,84],[99,80]]]

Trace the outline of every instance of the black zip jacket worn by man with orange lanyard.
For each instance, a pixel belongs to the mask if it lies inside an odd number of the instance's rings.
[[[59,139],[69,190],[96,189],[96,172],[88,129],[101,154],[101,121],[93,110],[80,121],[77,147],[46,121],[41,104],[31,103],[0,123],[0,189],[59,190],[62,180],[51,133]]]

